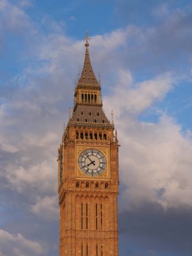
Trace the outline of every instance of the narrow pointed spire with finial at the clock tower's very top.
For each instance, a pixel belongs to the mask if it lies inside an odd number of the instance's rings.
[[[89,41],[90,38],[88,37],[88,31],[86,32],[86,43],[85,43],[85,46],[86,46],[86,55],[85,55],[85,61],[84,61],[84,67],[83,67],[83,70],[82,70],[82,75],[79,79],[79,82],[78,84],[81,84],[81,85],[93,85],[93,86],[96,86],[98,84],[98,81],[94,75],[94,71],[92,69],[92,64],[91,64],[91,61],[90,61],[90,54],[89,54]]]

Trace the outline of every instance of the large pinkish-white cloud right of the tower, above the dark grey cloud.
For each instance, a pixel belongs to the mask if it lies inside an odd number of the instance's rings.
[[[120,177],[125,187],[121,210],[143,201],[163,207],[192,206],[192,137],[177,121],[162,113],[157,123],[137,120],[143,110],[163,100],[172,89],[172,77],[162,75],[127,88],[118,84],[104,106],[115,110],[121,148]],[[126,203],[127,201],[127,203]]]

